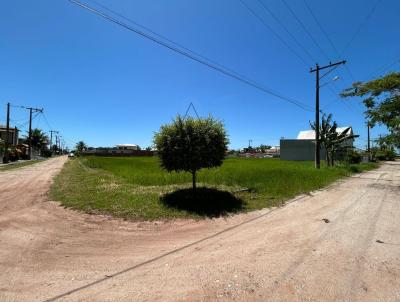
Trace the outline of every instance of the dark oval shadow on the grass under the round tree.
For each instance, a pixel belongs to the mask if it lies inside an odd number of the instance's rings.
[[[200,216],[219,217],[244,209],[244,202],[232,193],[210,188],[181,189],[160,198],[169,208],[184,210]]]

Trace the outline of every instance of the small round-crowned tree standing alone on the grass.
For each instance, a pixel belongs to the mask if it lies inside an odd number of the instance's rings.
[[[161,167],[169,172],[190,172],[193,191],[196,190],[197,171],[220,166],[228,143],[224,126],[212,117],[185,119],[177,116],[154,135]]]

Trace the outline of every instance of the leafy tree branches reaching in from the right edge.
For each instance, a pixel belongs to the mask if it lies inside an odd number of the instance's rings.
[[[400,148],[400,73],[393,72],[368,82],[356,82],[342,97],[363,97],[365,115],[371,127],[385,125],[389,134],[382,139]]]

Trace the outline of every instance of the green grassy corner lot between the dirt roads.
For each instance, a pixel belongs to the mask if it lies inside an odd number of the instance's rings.
[[[200,171],[200,188],[193,196],[188,190],[190,174],[162,171],[158,158],[86,157],[65,165],[50,197],[66,207],[132,220],[213,217],[275,206],[374,167],[360,164],[317,171],[312,162],[230,158],[220,168]]]

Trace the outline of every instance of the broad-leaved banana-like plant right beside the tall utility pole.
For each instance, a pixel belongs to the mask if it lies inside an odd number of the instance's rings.
[[[315,123],[310,123],[311,128],[315,130]],[[358,137],[358,135],[349,134],[350,127],[342,132],[337,131],[337,123],[332,121],[332,114],[323,115],[320,125],[319,140],[325,148],[326,163],[328,166],[335,164],[335,154],[338,150],[343,149],[343,143],[346,140]]]

